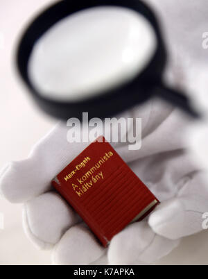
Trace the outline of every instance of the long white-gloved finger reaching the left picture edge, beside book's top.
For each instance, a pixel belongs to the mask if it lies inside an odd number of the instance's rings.
[[[58,124],[37,143],[28,159],[12,162],[0,177],[0,192],[12,203],[24,203],[51,189],[51,180],[87,143],[67,142],[67,126]]]

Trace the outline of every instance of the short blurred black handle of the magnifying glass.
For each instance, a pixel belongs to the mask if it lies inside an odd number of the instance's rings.
[[[173,88],[163,84],[157,85],[154,90],[154,93],[156,96],[159,96],[165,101],[168,101],[169,103],[176,105],[178,108],[181,108],[184,112],[187,112],[191,117],[194,117],[195,119],[202,118],[202,115],[200,115],[200,113],[195,108],[193,108],[193,105],[191,105],[189,97],[184,95],[184,93],[178,90],[174,90]]]

